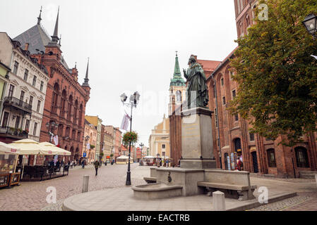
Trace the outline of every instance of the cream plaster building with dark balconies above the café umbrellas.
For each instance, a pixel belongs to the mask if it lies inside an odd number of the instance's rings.
[[[4,90],[0,141],[40,140],[44,101],[49,81],[43,65],[30,57],[28,44],[20,46],[8,34],[0,33],[0,60],[11,58],[8,84]]]

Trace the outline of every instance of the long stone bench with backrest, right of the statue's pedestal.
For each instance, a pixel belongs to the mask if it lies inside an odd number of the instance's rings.
[[[223,169],[205,169],[203,182],[197,182],[202,188],[210,191],[222,191],[226,198],[251,200],[253,191],[257,188],[250,184],[250,173],[241,171],[227,171]]]

